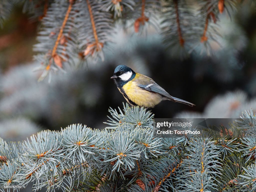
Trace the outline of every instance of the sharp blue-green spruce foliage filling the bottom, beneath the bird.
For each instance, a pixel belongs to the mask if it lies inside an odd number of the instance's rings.
[[[1,191],[30,182],[47,191],[255,190],[254,126],[237,129],[240,138],[224,134],[226,127],[218,138],[160,138],[150,111],[126,104],[109,112],[104,130],[73,124],[21,143],[1,139]],[[232,126],[246,127],[254,118],[248,111]]]

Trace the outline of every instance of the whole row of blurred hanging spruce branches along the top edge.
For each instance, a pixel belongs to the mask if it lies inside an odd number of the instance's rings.
[[[0,25],[17,0],[2,0]],[[206,50],[220,39],[219,15],[239,6],[237,0],[24,0],[23,11],[40,21],[34,46],[35,59],[44,79],[58,70],[67,71],[82,63],[104,60],[104,49],[113,50],[115,24],[147,35],[148,26],[161,34],[163,44],[175,56],[186,57],[193,51]],[[241,2],[242,3],[242,2]],[[248,2],[249,3],[249,2]],[[159,19],[159,17],[161,19]],[[117,19],[119,18],[119,19]],[[128,30],[126,30],[128,31]],[[152,30],[150,30],[152,31]],[[215,43],[216,42],[216,43]]]

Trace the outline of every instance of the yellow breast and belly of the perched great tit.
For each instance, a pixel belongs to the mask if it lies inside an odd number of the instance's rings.
[[[133,80],[127,82],[123,86],[123,89],[127,97],[139,106],[153,108],[155,105],[162,101],[162,96],[160,94],[141,89]]]

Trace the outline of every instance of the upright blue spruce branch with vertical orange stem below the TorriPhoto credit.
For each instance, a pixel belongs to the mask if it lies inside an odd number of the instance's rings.
[[[176,186],[180,191],[216,191],[216,175],[221,170],[218,148],[209,138],[192,139],[186,147],[182,171],[177,173]]]

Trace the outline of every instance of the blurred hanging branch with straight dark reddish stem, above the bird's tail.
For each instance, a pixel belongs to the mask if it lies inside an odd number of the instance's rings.
[[[164,44],[176,57],[184,57],[195,42],[195,26],[198,26],[194,12],[185,0],[173,0],[163,5],[161,33]],[[185,43],[186,42],[186,43]]]

